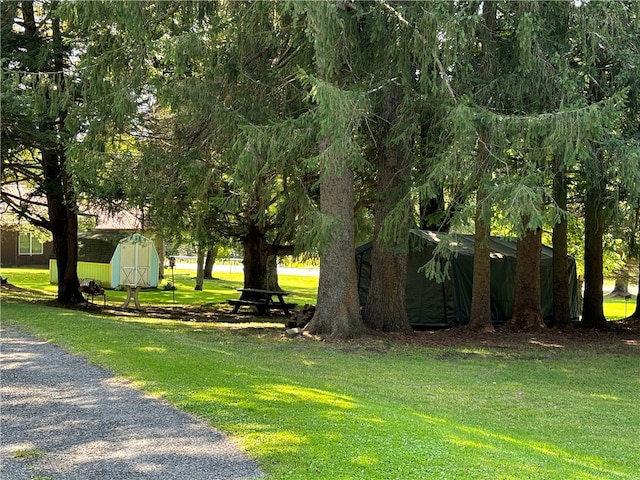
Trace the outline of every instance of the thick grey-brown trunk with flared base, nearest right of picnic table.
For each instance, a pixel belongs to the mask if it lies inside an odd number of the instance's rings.
[[[329,144],[324,140],[321,151]],[[318,304],[307,330],[334,338],[352,338],[364,331],[354,253],[353,170],[344,156],[334,160],[326,165],[325,179],[320,184],[320,210],[336,224],[329,244],[320,251]]]

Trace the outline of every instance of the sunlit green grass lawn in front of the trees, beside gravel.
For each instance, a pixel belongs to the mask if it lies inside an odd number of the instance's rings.
[[[111,317],[6,295],[1,307],[3,322],[222,429],[268,479],[639,478],[637,342],[330,343],[273,324]]]

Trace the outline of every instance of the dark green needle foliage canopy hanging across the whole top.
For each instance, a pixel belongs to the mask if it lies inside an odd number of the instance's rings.
[[[389,195],[378,155],[405,149],[410,188],[377,230],[390,244],[407,222],[471,230],[476,211],[516,234],[580,223],[590,192],[637,255],[635,2],[35,3],[63,19],[58,39],[12,30],[22,4],[2,3],[3,175],[33,175],[24,145],[62,147],[80,198],[166,237],[316,254],[340,225],[323,182],[353,171],[368,235]]]

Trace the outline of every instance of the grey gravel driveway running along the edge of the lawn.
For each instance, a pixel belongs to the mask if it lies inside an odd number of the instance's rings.
[[[260,478],[256,464],[204,422],[4,324],[0,478]]]

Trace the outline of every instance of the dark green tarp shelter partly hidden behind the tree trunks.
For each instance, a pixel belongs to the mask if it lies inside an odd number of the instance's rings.
[[[447,241],[455,252],[451,258],[449,279],[437,283],[428,279],[420,267],[433,256],[438,243]],[[427,230],[411,230],[407,258],[405,303],[409,322],[413,326],[447,327],[469,322],[473,278],[473,235],[442,235]],[[371,243],[356,249],[358,294],[364,306],[371,278]],[[545,320],[553,318],[553,249],[542,246],[541,307]],[[491,316],[494,323],[503,323],[513,312],[516,275],[515,240],[491,238]],[[569,257],[569,294],[571,316],[579,318],[576,263]]]

